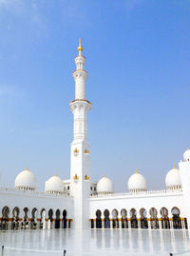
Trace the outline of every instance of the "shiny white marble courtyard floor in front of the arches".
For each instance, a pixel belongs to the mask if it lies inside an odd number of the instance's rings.
[[[190,255],[187,230],[17,230],[1,231],[4,256]]]

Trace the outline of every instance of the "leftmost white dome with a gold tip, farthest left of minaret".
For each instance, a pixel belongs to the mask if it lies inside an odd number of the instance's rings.
[[[36,187],[35,175],[27,169],[20,172],[15,179],[15,187],[19,189],[34,190]]]

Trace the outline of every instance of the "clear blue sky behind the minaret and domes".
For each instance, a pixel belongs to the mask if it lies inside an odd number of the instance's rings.
[[[0,0],[0,184],[69,178],[78,39],[86,57],[92,179],[150,189],[190,147],[189,0]]]

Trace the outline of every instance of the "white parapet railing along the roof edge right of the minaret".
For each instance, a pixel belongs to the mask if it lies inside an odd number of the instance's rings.
[[[139,192],[126,192],[126,193],[104,193],[99,195],[91,195],[90,198],[103,198],[103,197],[140,197],[148,195],[171,195],[171,194],[181,194],[182,189],[162,189],[162,190],[148,190]]]

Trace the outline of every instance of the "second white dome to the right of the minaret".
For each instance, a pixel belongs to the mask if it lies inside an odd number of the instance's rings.
[[[128,179],[128,190],[129,192],[141,192],[147,190],[146,180],[142,174],[137,172],[137,170]]]

